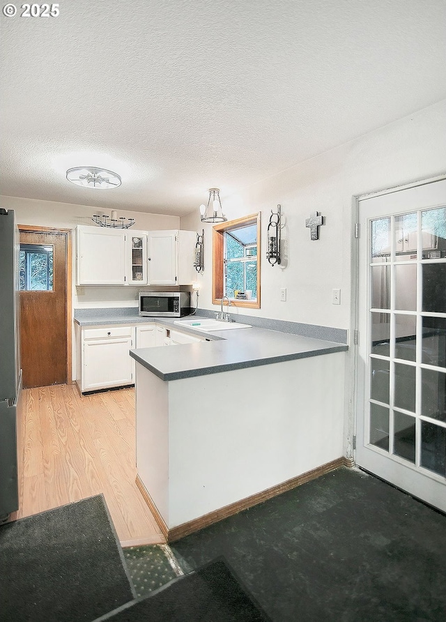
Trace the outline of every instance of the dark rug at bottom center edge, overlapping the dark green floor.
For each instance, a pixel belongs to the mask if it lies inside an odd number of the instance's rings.
[[[95,622],[268,622],[252,597],[217,559],[178,577],[151,596],[120,607]]]

